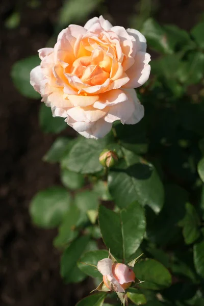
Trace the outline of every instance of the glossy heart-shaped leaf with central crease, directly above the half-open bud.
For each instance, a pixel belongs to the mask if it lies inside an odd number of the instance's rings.
[[[104,242],[113,256],[129,259],[136,252],[145,233],[145,216],[138,202],[115,213],[103,205],[99,207],[98,220]]]

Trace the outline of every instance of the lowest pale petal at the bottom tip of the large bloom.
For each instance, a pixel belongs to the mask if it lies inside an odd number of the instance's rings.
[[[79,133],[86,138],[98,139],[106,136],[111,131],[111,128],[112,123],[106,122],[104,118],[101,118],[95,122],[90,130]]]

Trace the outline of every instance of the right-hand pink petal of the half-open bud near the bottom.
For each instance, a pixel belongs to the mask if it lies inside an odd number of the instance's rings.
[[[124,264],[113,265],[113,276],[118,280],[120,285],[135,281],[135,273]]]

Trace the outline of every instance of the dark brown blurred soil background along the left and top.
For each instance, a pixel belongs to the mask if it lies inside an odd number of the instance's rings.
[[[63,285],[60,253],[53,246],[56,231],[40,230],[31,222],[28,209],[33,195],[60,183],[58,165],[42,161],[56,136],[41,131],[40,101],[25,98],[15,89],[12,65],[53,45],[69,23],[84,25],[103,14],[113,25],[140,30],[147,18],[154,17],[160,24],[189,31],[203,11],[203,0],[1,0],[1,306],[72,306],[90,292],[92,284],[90,279]],[[62,134],[70,136],[74,131],[67,127]]]

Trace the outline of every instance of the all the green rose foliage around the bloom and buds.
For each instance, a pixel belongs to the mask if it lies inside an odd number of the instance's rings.
[[[98,3],[65,2],[58,26],[86,19]],[[144,253],[134,268],[144,283],[127,290],[131,305],[199,306],[204,303],[203,22],[188,33],[148,18],[141,32],[156,54],[150,80],[137,90],[144,119],[136,125],[116,122],[101,140],[57,137],[43,160],[59,163],[64,187],[39,191],[30,214],[37,226],[58,227],[54,245],[62,252],[66,283],[87,275],[101,281],[96,265],[108,257],[106,248],[123,263]],[[13,83],[25,97],[39,98],[29,84],[38,63],[34,56],[12,68]],[[39,122],[45,133],[67,128],[44,105]],[[104,149],[119,157],[110,169],[99,162]],[[106,296],[93,294],[77,305],[110,305]]]

